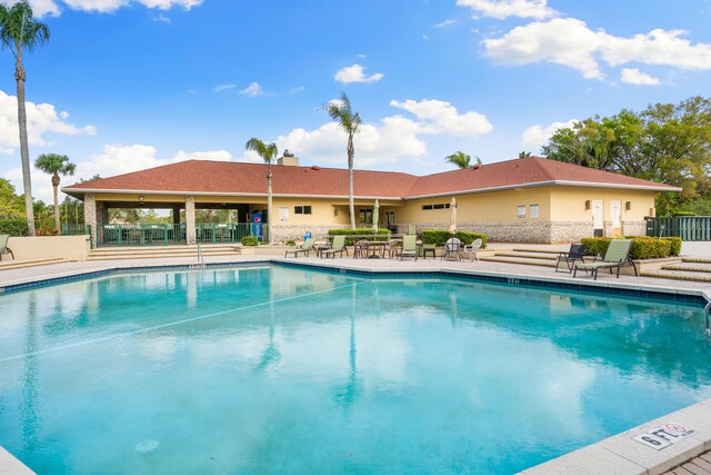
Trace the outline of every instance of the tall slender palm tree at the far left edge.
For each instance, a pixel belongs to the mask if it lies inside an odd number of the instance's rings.
[[[49,40],[49,28],[32,17],[32,7],[22,0],[12,7],[0,3],[0,42],[14,56],[14,80],[18,86],[18,123],[20,127],[20,157],[22,160],[22,185],[24,187],[24,211],[27,231],[34,236],[32,215],[32,181],[30,177],[30,149],[27,139],[27,111],[24,109],[24,80],[22,52],[32,51]]]

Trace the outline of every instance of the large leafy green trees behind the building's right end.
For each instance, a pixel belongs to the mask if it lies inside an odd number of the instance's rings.
[[[623,109],[559,129],[542,148],[548,158],[683,188],[660,194],[658,214],[707,209],[711,200],[711,100],[692,97]],[[692,211],[693,212],[693,211]]]

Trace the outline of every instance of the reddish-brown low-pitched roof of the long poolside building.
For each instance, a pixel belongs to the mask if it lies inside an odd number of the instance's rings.
[[[348,170],[340,168],[272,166],[274,196],[348,197]],[[188,160],[148,170],[100,178],[62,188],[84,192],[166,192],[180,195],[266,195],[267,166],[229,161]],[[356,170],[354,196],[414,198],[498,188],[544,185],[679,190],[662,184],[594,170],[540,157],[483,165],[479,168],[417,177],[393,171]]]

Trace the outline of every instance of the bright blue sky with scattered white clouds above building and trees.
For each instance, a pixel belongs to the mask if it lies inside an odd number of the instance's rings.
[[[68,155],[77,178],[254,161],[250,137],[346,167],[321,109],[341,91],[364,121],[356,167],[415,175],[457,150],[507,160],[574,119],[711,96],[708,0],[32,4],[51,39],[26,58],[30,154]],[[0,177],[20,191],[14,88],[2,51]],[[50,201],[37,170],[33,195]]]

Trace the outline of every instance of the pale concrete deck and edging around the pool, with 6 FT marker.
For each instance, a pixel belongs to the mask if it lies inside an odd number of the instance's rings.
[[[511,245],[509,245],[511,247]],[[520,247],[535,248],[534,245],[521,245]],[[568,245],[558,246],[562,250]],[[545,246],[547,249],[555,249],[555,246]],[[683,253],[682,250],[682,254]],[[711,257],[711,246],[700,246],[698,251],[688,255]],[[408,273],[408,271],[451,271],[463,275],[495,276],[505,278],[527,278],[547,283],[583,284],[591,288],[625,288],[632,290],[663,291],[672,294],[704,296],[711,301],[711,285],[708,283],[680,281],[662,278],[634,277],[601,273],[598,280],[593,281],[589,276],[579,276],[573,279],[567,273],[554,273],[551,268],[535,266],[522,266],[489,261],[447,261],[438,259],[418,259],[400,261],[397,259],[353,259],[352,257],[336,259],[288,258],[277,256],[213,256],[206,257],[204,263],[210,264],[267,264],[284,263],[301,264],[306,266],[344,268],[357,271],[372,273]],[[113,269],[140,269],[169,266],[196,265],[194,258],[153,258],[111,261],[83,261],[61,263],[41,267],[21,269],[8,269],[0,271],[0,293],[4,287],[41,281],[47,279],[81,276],[96,271]],[[683,437],[679,443],[670,445],[662,451],[648,447],[632,437],[644,434],[652,428],[664,424],[674,423],[693,429],[693,434]],[[685,407],[670,415],[645,423],[624,433],[605,438],[601,442],[583,447],[559,458],[552,459],[535,467],[524,471],[524,474],[662,474],[687,461],[711,449],[711,399]],[[22,472],[24,468],[26,472]],[[0,447],[0,475],[16,473],[32,473],[20,462]]]

